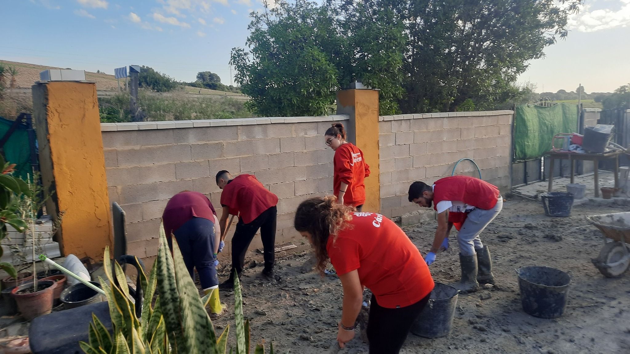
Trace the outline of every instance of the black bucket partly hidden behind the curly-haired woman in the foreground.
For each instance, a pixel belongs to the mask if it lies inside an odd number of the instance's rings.
[[[435,283],[429,302],[411,325],[411,333],[425,338],[444,337],[453,328],[455,306],[459,290],[450,285]]]

